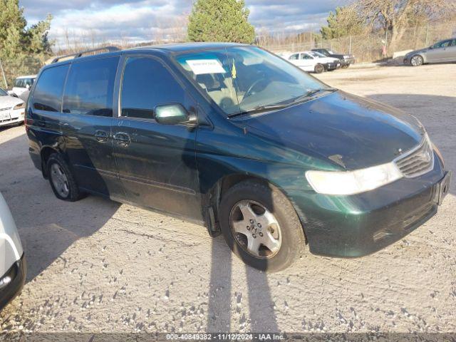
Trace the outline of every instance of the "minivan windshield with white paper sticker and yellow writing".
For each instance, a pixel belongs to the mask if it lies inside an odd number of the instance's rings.
[[[281,108],[329,89],[279,56],[252,46],[184,53],[176,59],[227,116]]]

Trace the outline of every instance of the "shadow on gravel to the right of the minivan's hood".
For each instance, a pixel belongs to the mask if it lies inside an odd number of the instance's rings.
[[[456,195],[456,96],[375,94],[368,98],[404,110],[423,123],[432,142],[442,152],[445,167],[453,172],[450,192]]]

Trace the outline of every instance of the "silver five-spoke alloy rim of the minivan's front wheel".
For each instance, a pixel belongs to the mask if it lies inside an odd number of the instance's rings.
[[[258,202],[245,199],[234,205],[229,215],[232,233],[245,252],[270,259],[280,250],[280,224],[274,214]]]

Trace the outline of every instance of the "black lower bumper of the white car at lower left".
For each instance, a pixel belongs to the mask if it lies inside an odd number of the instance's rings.
[[[0,310],[21,292],[26,281],[27,261],[24,254],[0,277]]]

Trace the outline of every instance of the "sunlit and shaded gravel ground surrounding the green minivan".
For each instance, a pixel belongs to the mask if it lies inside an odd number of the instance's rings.
[[[456,65],[350,68],[331,86],[416,115],[456,170]],[[307,254],[264,274],[204,227],[98,197],[54,197],[24,126],[0,130],[0,191],[26,256],[0,331],[456,331],[456,181],[440,212],[368,257]]]

